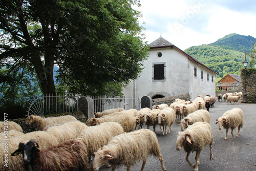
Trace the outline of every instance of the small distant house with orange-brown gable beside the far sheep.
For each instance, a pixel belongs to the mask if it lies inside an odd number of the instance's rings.
[[[219,90],[239,90],[242,79],[240,75],[227,74],[217,84]],[[240,91],[240,90],[239,90]]]

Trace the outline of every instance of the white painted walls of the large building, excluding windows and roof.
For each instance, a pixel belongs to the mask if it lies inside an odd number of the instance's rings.
[[[162,57],[157,53],[161,52]],[[153,81],[153,62],[165,62],[165,81]],[[190,94],[191,100],[197,95],[215,95],[215,73],[188,60],[188,57],[175,48],[156,48],[149,50],[149,56],[143,62],[144,69],[137,80],[131,80],[129,85],[123,89],[125,96],[150,96],[163,95],[177,96]],[[198,76],[194,77],[194,66],[198,69]],[[201,80],[201,70],[204,71],[204,79]],[[189,73],[189,76],[188,76]],[[209,73],[209,81],[207,81]],[[214,75],[214,82],[211,76]],[[135,90],[135,92],[134,92]]]

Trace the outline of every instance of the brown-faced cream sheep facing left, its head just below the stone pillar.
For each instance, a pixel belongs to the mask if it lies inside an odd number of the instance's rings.
[[[133,115],[120,114],[116,116],[89,118],[87,120],[88,126],[94,126],[103,122],[117,122],[123,127],[124,132],[135,131],[136,118]]]

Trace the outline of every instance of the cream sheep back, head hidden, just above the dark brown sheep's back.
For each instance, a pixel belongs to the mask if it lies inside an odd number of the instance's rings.
[[[58,139],[58,142],[63,142],[75,139],[84,129],[87,129],[87,127],[86,124],[75,120],[59,126],[50,127],[47,132],[54,135]]]

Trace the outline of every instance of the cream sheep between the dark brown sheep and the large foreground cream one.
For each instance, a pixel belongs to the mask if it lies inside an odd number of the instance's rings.
[[[123,127],[117,122],[104,122],[99,125],[89,126],[83,130],[76,138],[87,146],[89,162],[98,148],[108,144],[108,142],[119,134],[123,134]]]

